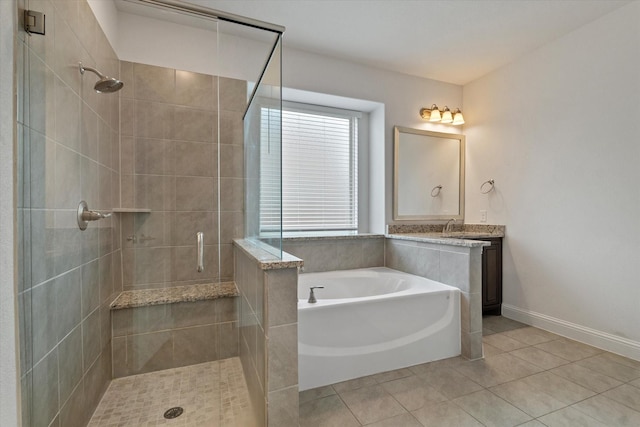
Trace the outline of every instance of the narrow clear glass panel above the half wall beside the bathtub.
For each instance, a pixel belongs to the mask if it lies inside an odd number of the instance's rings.
[[[244,119],[245,235],[282,257],[281,37]]]

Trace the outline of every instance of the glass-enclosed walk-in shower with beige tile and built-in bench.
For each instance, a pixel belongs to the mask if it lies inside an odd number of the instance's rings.
[[[242,377],[255,368],[239,358],[241,331],[256,325],[233,240],[280,251],[277,225],[260,226],[254,168],[272,165],[279,182],[283,28],[114,0],[115,45],[92,8],[104,1],[25,0],[49,28],[17,35],[23,425],[99,426],[125,407],[126,425],[165,413],[263,424]]]

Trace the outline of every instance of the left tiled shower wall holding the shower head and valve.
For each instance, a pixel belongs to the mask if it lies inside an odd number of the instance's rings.
[[[29,231],[24,250],[33,261],[23,269],[30,267],[29,287],[35,286],[29,294],[32,310],[25,312],[28,307],[21,304],[23,323],[33,324],[32,334],[22,336],[21,348],[32,342],[34,354],[25,354],[23,360],[33,356],[37,368],[27,370],[28,375],[35,374],[38,383],[49,378],[48,384],[27,390],[23,413],[29,407],[37,412],[27,425],[66,426],[75,425],[76,418],[79,424],[85,422],[111,378],[110,367],[105,369],[111,360],[110,338],[104,340],[102,334],[110,327],[102,325],[100,301],[108,301],[114,291],[111,253],[119,237],[114,234],[115,218],[91,223],[86,231],[76,223],[82,199],[92,209],[114,207],[120,151],[119,114],[114,114],[118,95],[96,94],[96,76],[82,76],[78,62],[108,75],[118,74],[118,62],[86,0],[32,0],[30,7],[47,15],[47,34],[29,38],[28,45],[21,42],[18,49],[29,67],[24,91],[28,105],[20,119],[27,126],[22,134],[28,150],[25,160],[31,166],[20,186],[32,190],[24,195],[29,230],[21,231]],[[86,366],[83,369],[83,359],[91,358],[101,360],[101,374],[92,376],[97,390],[93,400],[85,399],[84,386],[92,374]],[[55,373],[45,372],[46,366]],[[52,400],[43,396],[53,395],[55,404],[49,405]],[[69,423],[80,407],[84,415]]]

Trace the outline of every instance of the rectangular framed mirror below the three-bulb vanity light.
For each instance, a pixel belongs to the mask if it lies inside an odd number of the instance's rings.
[[[464,135],[394,127],[393,219],[464,219]]]

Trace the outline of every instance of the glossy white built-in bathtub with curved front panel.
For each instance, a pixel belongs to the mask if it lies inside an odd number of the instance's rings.
[[[459,354],[457,288],[384,267],[298,278],[300,390]]]

